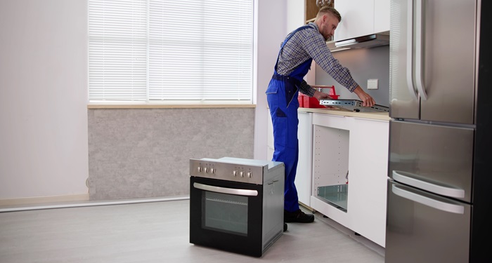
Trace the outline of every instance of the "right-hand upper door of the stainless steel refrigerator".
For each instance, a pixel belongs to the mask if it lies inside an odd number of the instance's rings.
[[[420,119],[473,124],[476,1],[417,1],[425,3],[422,68],[417,67],[420,58],[416,58],[415,67],[417,86],[422,72],[422,86],[427,93],[427,100],[421,101]]]

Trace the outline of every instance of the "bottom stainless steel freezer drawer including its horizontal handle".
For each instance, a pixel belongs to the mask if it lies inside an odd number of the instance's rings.
[[[468,262],[472,205],[388,181],[384,262]]]

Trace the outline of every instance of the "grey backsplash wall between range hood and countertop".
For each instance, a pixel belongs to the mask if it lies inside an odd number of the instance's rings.
[[[389,46],[351,49],[332,53],[342,66],[350,69],[358,85],[371,95],[377,104],[389,107]],[[379,79],[379,89],[368,90],[368,79]],[[335,81],[316,65],[316,85],[335,86],[339,99],[358,99],[355,93]]]

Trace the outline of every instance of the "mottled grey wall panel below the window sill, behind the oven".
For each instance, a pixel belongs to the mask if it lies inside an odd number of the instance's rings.
[[[189,194],[189,160],[253,158],[254,108],[89,109],[91,201]]]

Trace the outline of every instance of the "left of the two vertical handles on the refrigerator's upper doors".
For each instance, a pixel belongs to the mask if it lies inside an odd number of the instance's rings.
[[[408,0],[407,3],[406,86],[410,95],[418,100],[417,92],[413,86],[413,0]]]

